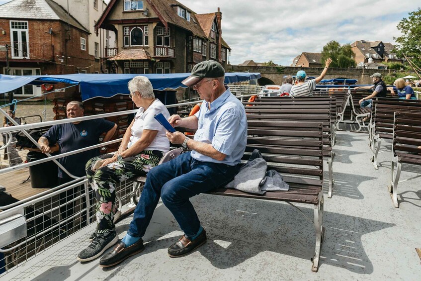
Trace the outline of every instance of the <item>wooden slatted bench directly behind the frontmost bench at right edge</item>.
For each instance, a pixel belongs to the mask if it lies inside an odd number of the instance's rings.
[[[377,156],[380,151],[382,139],[393,139],[393,121],[395,111],[421,112],[420,101],[408,101],[406,99],[389,100],[378,98],[375,100],[374,129],[372,133],[371,147],[373,150],[371,162],[374,169],[378,169]]]

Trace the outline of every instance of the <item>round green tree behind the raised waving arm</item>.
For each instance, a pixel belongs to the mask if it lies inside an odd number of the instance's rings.
[[[332,58],[331,67],[355,67],[354,56],[355,54],[351,50],[351,45],[343,44],[340,46],[339,42],[330,41],[323,47],[322,64],[324,64],[328,58]]]

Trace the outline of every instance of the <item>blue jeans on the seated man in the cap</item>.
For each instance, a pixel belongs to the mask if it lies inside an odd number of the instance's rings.
[[[239,169],[240,165],[197,161],[191,158],[190,152],[153,168],[146,178],[127,234],[133,237],[145,235],[161,196],[184,234],[194,236],[200,229],[200,221],[189,198],[225,186]]]

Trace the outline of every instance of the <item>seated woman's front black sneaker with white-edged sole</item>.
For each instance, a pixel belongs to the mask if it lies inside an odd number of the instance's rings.
[[[88,262],[98,258],[117,241],[118,235],[115,231],[96,234],[90,245],[79,253],[78,261]]]

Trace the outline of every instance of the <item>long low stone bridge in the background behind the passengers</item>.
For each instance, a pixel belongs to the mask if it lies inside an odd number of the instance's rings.
[[[238,66],[228,65],[227,72],[259,72],[261,78],[257,81],[258,85],[269,84],[282,85],[284,75],[294,76],[299,70],[304,70],[308,76],[318,77],[323,68],[299,68],[299,67],[270,67],[270,66]],[[382,69],[357,69],[357,68],[330,68],[325,79],[347,78],[358,80],[357,84],[371,84],[370,75],[379,72],[382,76],[391,75],[396,70]]]

